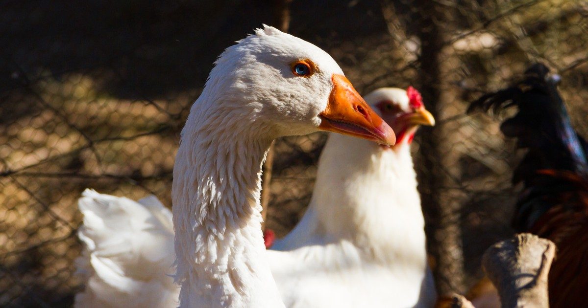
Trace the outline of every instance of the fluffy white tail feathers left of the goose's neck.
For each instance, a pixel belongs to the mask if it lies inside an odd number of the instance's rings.
[[[76,265],[86,288],[75,306],[176,306],[171,212],[154,196],[135,202],[91,189],[82,196],[84,245]]]

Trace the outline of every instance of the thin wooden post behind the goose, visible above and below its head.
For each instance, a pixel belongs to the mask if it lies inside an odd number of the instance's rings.
[[[292,0],[276,0],[275,1],[275,16],[276,21],[275,25],[278,26],[278,29],[282,32],[288,32],[290,28],[290,2]],[[261,229],[265,230],[266,221],[268,219],[268,207],[269,207],[269,198],[270,198],[270,188],[269,185],[272,182],[272,172],[273,172],[273,145],[275,141],[272,142],[272,145],[269,146],[268,155],[265,158],[265,164],[263,164],[263,175],[262,175],[262,183],[261,183],[261,216],[262,216],[262,223]]]

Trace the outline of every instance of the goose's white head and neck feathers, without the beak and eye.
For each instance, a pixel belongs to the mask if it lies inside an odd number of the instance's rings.
[[[310,78],[289,63],[312,59]],[[280,307],[260,228],[260,175],[280,136],[318,130],[342,74],[323,50],[265,27],[223,52],[182,130],[173,170],[181,306]]]

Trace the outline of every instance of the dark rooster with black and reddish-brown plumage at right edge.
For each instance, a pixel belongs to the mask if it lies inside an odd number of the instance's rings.
[[[573,129],[562,97],[559,76],[535,64],[524,79],[472,103],[468,112],[495,113],[516,107],[500,130],[527,149],[513,174],[524,188],[513,226],[556,243],[549,273],[551,307],[585,307],[588,299],[588,144]]]

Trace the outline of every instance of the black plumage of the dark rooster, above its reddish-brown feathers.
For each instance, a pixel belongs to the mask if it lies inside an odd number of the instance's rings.
[[[549,78],[548,72],[546,66],[537,63],[527,69],[520,82],[480,97],[467,111],[492,109],[498,114],[509,107],[518,108],[517,114],[500,126],[505,136],[517,138],[518,147],[529,149],[526,159],[517,168],[520,170],[515,172],[517,181],[540,169],[588,175],[588,144],[574,131],[557,92],[556,80]]]

